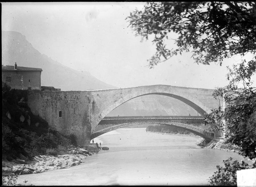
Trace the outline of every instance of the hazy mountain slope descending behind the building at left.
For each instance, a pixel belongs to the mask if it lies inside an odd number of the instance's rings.
[[[53,61],[37,51],[19,32],[2,31],[2,64],[42,68],[41,85],[61,90],[98,90],[116,88],[89,72],[79,72]]]

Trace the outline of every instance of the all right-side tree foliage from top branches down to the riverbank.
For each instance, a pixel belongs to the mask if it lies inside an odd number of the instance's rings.
[[[156,53],[148,60],[150,68],[182,52],[191,52],[196,63],[222,64],[233,55],[254,55],[228,67],[228,86],[219,88],[215,97],[224,96],[226,109],[206,114],[206,124],[223,130],[230,142],[242,147],[241,154],[255,158],[255,88],[251,77],[256,71],[256,3],[255,2],[148,2],[144,9],[128,16],[136,36],[148,40],[153,36]],[[175,49],[168,49],[171,35]],[[216,123],[217,122],[217,123]]]

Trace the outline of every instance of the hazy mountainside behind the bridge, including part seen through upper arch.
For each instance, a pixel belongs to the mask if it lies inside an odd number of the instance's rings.
[[[89,72],[68,68],[37,51],[19,32],[2,31],[2,64],[42,68],[41,85],[61,90],[98,90],[115,88],[93,77]],[[187,104],[167,96],[142,96],[134,98],[108,116],[197,115]]]

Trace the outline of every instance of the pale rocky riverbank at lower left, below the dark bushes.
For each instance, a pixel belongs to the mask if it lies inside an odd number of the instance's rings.
[[[83,163],[87,156],[99,152],[94,147],[89,147],[90,151],[84,148],[76,147],[69,151],[66,155],[37,155],[31,161],[26,157],[23,159],[16,158],[8,161],[3,156],[2,159],[2,176],[13,174],[31,174],[42,173],[53,169],[69,168]]]

